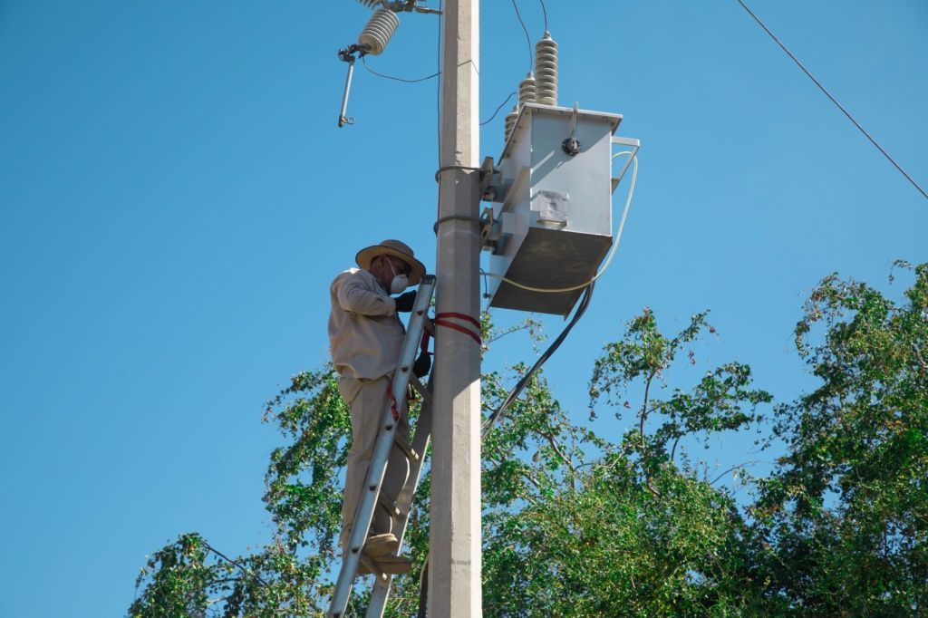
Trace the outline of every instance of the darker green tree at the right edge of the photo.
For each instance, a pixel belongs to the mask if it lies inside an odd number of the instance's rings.
[[[821,385],[777,412],[754,506],[768,593],[797,615],[928,612],[928,264],[906,301],[835,275],[796,325]]]

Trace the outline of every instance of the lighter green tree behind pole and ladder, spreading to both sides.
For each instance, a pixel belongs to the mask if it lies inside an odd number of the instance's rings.
[[[646,311],[597,361],[594,389],[618,393],[641,380],[647,392],[704,328],[705,315],[697,315],[690,328],[665,339]],[[485,324],[483,334],[492,341],[508,332]],[[525,370],[513,369],[517,375]],[[486,414],[505,398],[507,381],[499,373],[484,377]],[[712,603],[720,594],[719,569],[742,560],[735,551],[741,521],[730,496],[695,480],[693,470],[677,470],[673,451],[685,435],[752,422],[754,407],[769,395],[750,390],[749,381],[746,367],[728,365],[690,392],[677,390],[660,401],[646,396],[639,414],[663,422],[647,436],[645,423],[636,423],[612,444],[575,425],[537,374],[484,440],[487,615],[612,615],[629,603],[640,615],[670,614]],[[417,412],[413,405],[412,416]],[[296,376],[269,403],[264,419],[286,439],[272,453],[265,477],[275,543],[233,560],[199,535],[184,535],[148,562],[131,615],[324,612],[338,560],[339,473],[349,428],[330,368]],[[389,615],[407,616],[418,606],[428,489],[426,479],[406,538],[416,562],[410,576],[394,580]],[[740,590],[729,592],[741,597]],[[356,596],[352,611],[364,600]]]

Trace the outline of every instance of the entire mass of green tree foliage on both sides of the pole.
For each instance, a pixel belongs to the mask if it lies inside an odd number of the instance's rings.
[[[906,303],[826,277],[796,327],[820,380],[774,408],[776,470],[738,504],[680,444],[753,431],[772,401],[740,363],[695,365],[707,314],[665,335],[645,309],[595,360],[590,416],[577,424],[542,373],[483,440],[483,607],[487,616],[922,615],[928,612],[928,264]],[[483,340],[496,330],[483,316]],[[485,351],[485,349],[484,349]],[[527,367],[483,376],[483,413]],[[674,377],[674,384],[669,384]],[[411,406],[415,418],[418,403]],[[337,574],[342,471],[350,422],[331,367],[301,373],[268,403],[281,431],[264,502],[273,543],[230,559],[198,534],[155,553],[129,615],[322,616]],[[612,421],[611,421],[612,422]],[[598,425],[599,426],[599,425]],[[712,440],[717,444],[717,440]],[[393,580],[387,615],[417,612],[428,551],[429,478],[410,514],[409,575]],[[362,580],[349,615],[365,609]]]

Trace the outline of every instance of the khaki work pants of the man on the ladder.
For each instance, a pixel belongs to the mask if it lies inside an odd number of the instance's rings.
[[[383,412],[390,406],[387,395],[387,386],[390,380],[386,377],[378,380],[357,380],[342,378],[339,380],[339,393],[342,399],[351,408],[352,444],[348,452],[348,468],[345,472],[345,496],[342,502],[342,547],[347,547],[348,539],[354,527],[354,516],[364,482],[367,479],[367,469],[370,467],[370,457],[374,454],[374,445],[380,431],[380,421]],[[409,439],[409,418],[406,406],[400,410],[400,419],[396,426],[406,440]],[[381,491],[395,501],[400,490],[406,484],[409,475],[409,461],[398,448],[392,448],[387,470],[383,476]],[[370,534],[384,534],[393,532],[393,518],[385,509],[374,509],[374,518],[370,522]]]

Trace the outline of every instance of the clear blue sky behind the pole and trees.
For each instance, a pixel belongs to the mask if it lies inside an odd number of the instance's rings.
[[[540,6],[520,6],[535,40]],[[753,7],[928,184],[928,5]],[[326,359],[329,280],[381,238],[434,264],[435,81],[359,67],[357,123],[335,124],[335,51],[366,18],[349,0],[0,0],[0,617],[118,616],[176,534],[267,539],[259,418]],[[616,261],[548,365],[561,402],[586,416],[593,357],[645,305],[668,329],[712,308],[708,360],[789,399],[810,383],[805,294],[928,260],[928,200],[735,0],[548,0],[548,18],[561,103],[623,113],[644,144]],[[431,73],[437,19],[402,21],[371,67]],[[487,118],[528,60],[509,2],[481,27]],[[501,142],[502,114],[481,152]],[[489,362],[534,354],[512,340]]]

